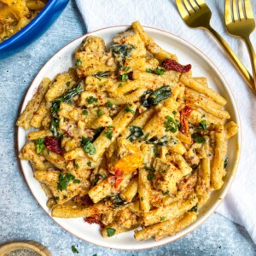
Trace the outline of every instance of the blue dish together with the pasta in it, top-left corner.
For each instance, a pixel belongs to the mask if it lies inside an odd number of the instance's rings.
[[[0,0],[0,59],[39,38],[67,3],[68,0]]]

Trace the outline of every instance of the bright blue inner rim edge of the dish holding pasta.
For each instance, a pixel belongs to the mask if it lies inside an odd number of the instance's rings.
[[[26,32],[28,32],[33,26],[36,26],[41,19],[44,19],[44,17],[48,15],[49,11],[51,10],[51,7],[55,3],[57,3],[57,1],[58,0],[49,0],[49,2],[46,3],[46,5],[44,6],[44,9],[42,9],[33,20],[31,20],[19,32],[16,32],[13,36],[0,43],[0,49],[4,49],[5,47],[8,47],[10,44],[13,44],[15,41],[18,41],[20,38],[22,38],[26,34]],[[67,0],[67,3],[68,1],[69,0]]]

